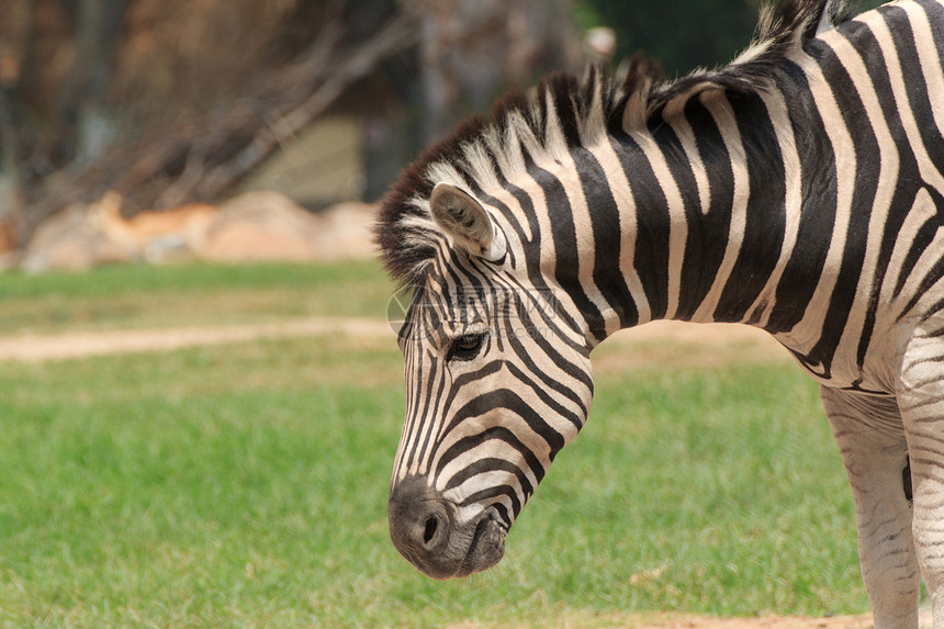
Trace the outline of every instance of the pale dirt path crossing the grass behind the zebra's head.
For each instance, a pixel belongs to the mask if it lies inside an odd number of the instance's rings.
[[[259,338],[333,334],[393,340],[393,330],[382,319],[313,317],[262,324],[0,336],[0,361],[43,362],[112,353],[171,351]],[[761,352],[772,358],[787,356],[765,333],[739,325],[705,326],[655,322],[617,333],[607,345],[651,346],[663,340],[697,345],[706,349],[738,346],[744,351]]]

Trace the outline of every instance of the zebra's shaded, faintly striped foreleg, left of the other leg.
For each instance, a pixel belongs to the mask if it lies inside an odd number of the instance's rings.
[[[852,485],[875,629],[917,628],[921,576],[904,483],[908,447],[896,401],[824,386],[820,395]]]

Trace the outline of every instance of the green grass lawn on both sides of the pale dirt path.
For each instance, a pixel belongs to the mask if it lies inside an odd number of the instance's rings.
[[[372,265],[0,276],[0,329],[379,317],[389,291]],[[597,373],[591,420],[503,562],[445,583],[387,537],[404,407],[392,336],[0,363],[0,627],[866,610],[816,386],[790,364],[688,362]]]

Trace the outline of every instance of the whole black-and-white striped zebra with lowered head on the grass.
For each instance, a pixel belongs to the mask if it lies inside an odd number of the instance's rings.
[[[375,225],[413,287],[397,550],[497,563],[593,397],[589,352],[655,319],[771,333],[818,381],[876,627],[944,628],[944,3],[762,9],[728,65],[558,74],[428,148]]]

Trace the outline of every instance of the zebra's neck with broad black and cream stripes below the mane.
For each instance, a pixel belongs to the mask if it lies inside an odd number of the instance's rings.
[[[703,92],[571,154],[589,212],[574,218],[582,279],[562,284],[592,337],[665,318],[765,325],[799,204],[779,92]]]

